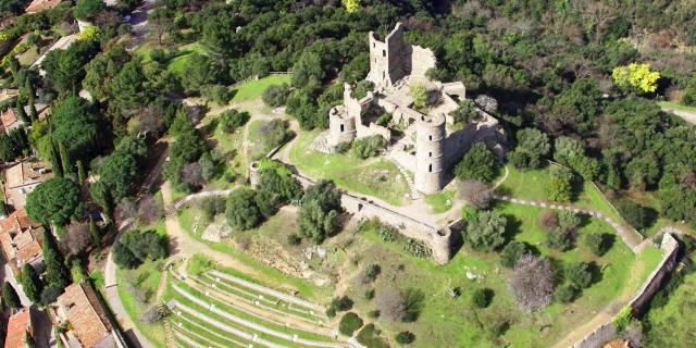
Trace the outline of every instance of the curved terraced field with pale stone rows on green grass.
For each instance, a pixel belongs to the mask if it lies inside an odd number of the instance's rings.
[[[162,300],[177,347],[350,347],[322,306],[215,270],[170,272]]]

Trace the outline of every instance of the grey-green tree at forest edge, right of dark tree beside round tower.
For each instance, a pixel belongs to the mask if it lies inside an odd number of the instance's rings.
[[[509,154],[518,169],[535,169],[542,165],[542,158],[551,150],[548,136],[536,128],[524,128],[517,134],[518,146]]]

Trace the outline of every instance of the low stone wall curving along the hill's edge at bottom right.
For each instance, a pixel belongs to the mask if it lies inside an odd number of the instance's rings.
[[[664,278],[674,270],[676,264],[676,256],[679,253],[679,241],[672,236],[672,229],[667,229],[662,237],[660,249],[663,256],[660,264],[655,269],[650,276],[645,281],[641,289],[629,301],[634,318],[637,318],[645,310],[646,304],[652,296],[660,289]],[[595,328],[589,335],[573,345],[573,348],[598,348],[617,336],[617,328],[612,321]]]

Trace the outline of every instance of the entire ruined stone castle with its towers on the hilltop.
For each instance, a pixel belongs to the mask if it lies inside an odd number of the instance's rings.
[[[505,135],[498,121],[478,111],[478,120],[455,124],[450,113],[465,99],[463,83],[440,83],[426,77],[436,59],[430,49],[408,46],[403,26],[398,23],[384,41],[370,32],[370,73],[366,80],[374,89],[364,98],[352,96],[346,84],[344,103],[328,112],[326,142],[335,148],[356,138],[380,135],[389,146],[387,157],[414,173],[415,188],[434,194],[446,184],[445,173],[461,159],[475,141],[485,141],[498,156]],[[427,108],[415,110],[411,89],[426,89]],[[390,114],[388,125],[378,125],[377,116]],[[398,130],[398,132],[395,132]]]

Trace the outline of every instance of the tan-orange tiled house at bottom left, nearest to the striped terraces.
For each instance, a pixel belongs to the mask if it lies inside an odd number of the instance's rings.
[[[60,328],[59,338],[70,348],[125,348],[91,285],[72,284],[49,307],[53,324]]]

